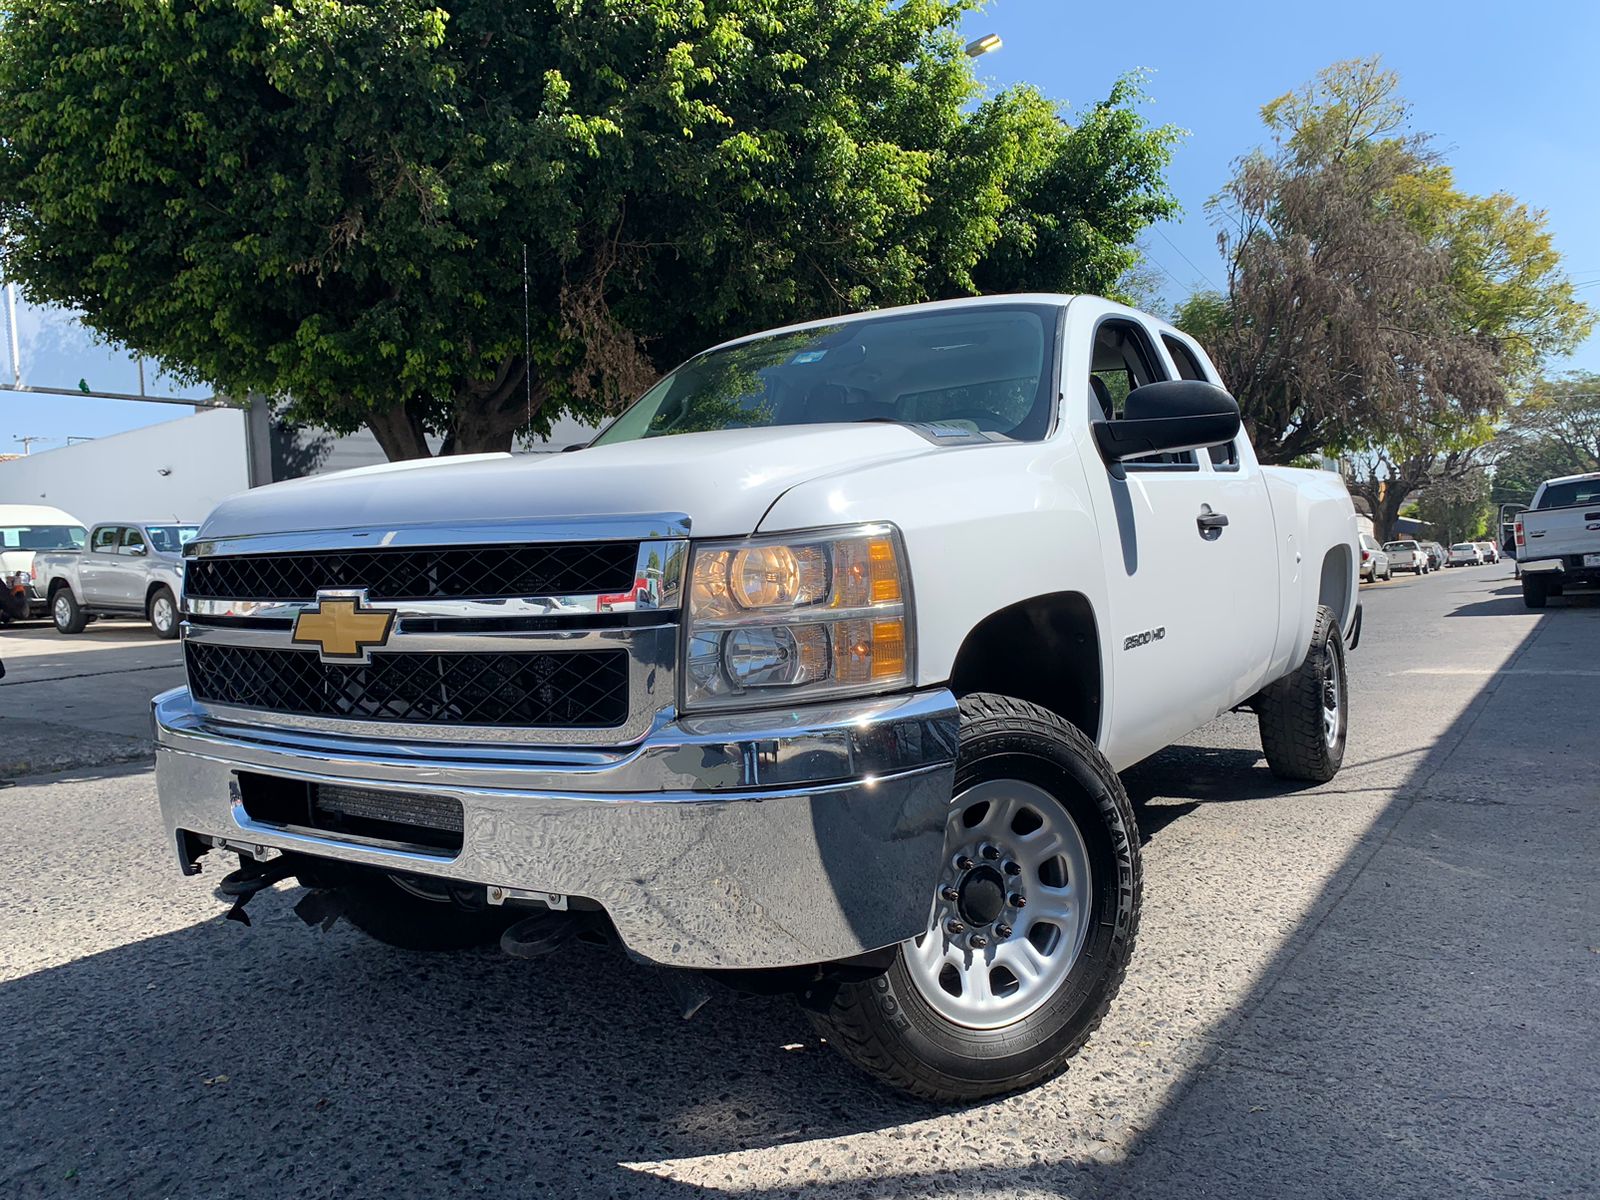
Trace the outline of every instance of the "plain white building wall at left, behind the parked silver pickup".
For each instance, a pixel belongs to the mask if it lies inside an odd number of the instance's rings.
[[[0,462],[0,504],[53,504],[85,525],[203,520],[250,486],[245,413],[214,408]]]

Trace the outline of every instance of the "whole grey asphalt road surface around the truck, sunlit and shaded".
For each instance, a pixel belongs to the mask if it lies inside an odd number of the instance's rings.
[[[405,955],[307,930],[288,888],[224,922],[144,763],[18,779],[0,1195],[1600,1194],[1600,603],[1530,613],[1509,566],[1362,597],[1339,778],[1274,781],[1250,717],[1130,771],[1120,1000],[1067,1075],[958,1110],[787,1002],[683,1022],[603,950]],[[126,717],[77,707],[126,682],[50,670],[0,685],[13,728]]]

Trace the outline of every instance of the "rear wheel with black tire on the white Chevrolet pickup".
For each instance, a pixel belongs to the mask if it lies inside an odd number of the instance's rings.
[[[1323,672],[1328,656],[1333,656],[1338,678],[1339,712],[1338,738],[1331,746],[1323,725]],[[1339,622],[1326,605],[1317,610],[1306,661],[1262,688],[1256,698],[1256,717],[1261,725],[1261,749],[1275,776],[1325,784],[1339,773],[1350,731],[1350,688],[1344,672]]]

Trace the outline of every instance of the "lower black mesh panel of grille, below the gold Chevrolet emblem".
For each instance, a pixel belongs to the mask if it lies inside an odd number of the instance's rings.
[[[610,728],[627,720],[627,651],[373,654],[189,642],[195,699],[306,717],[402,725]]]

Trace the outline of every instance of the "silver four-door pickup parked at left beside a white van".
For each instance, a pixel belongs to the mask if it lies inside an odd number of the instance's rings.
[[[194,522],[107,523],[88,547],[38,555],[35,573],[62,634],[82,634],[99,616],[142,616],[157,637],[178,637],[184,544]]]

